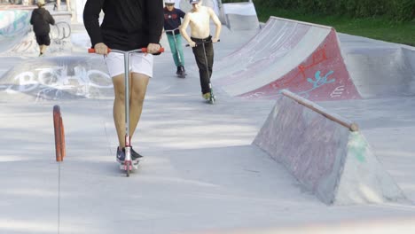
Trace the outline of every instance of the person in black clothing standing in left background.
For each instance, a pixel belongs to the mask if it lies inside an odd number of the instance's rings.
[[[44,0],[37,1],[37,9],[33,10],[30,17],[30,24],[33,25],[33,31],[36,36],[36,43],[39,45],[39,56],[43,56],[46,48],[51,45],[50,25],[55,24],[51,13],[44,8]]]

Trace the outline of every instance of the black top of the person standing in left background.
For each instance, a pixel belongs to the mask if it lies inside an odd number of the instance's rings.
[[[35,35],[48,35],[49,32],[51,32],[51,27],[49,25],[54,25],[55,20],[50,12],[41,7],[33,10],[30,24],[33,25]]]

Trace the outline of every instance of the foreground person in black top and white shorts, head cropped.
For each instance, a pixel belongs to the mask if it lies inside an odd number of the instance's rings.
[[[102,23],[100,12],[104,12]],[[140,119],[145,92],[153,76],[153,54],[161,50],[163,30],[163,0],[87,0],[83,24],[90,35],[92,48],[104,55],[106,67],[114,84],[114,124],[118,136],[116,160],[125,160],[125,98],[129,98],[129,136],[134,135]],[[124,58],[120,53],[108,53],[108,48],[132,51],[146,48],[147,53],[130,55],[129,97],[124,93]],[[131,147],[131,160],[143,156]]]

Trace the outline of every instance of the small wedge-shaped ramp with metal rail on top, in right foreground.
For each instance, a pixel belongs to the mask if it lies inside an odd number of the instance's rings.
[[[282,93],[253,144],[326,204],[406,201],[356,124]]]

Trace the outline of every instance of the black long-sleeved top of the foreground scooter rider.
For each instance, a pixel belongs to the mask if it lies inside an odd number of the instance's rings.
[[[104,20],[99,25],[99,13]],[[83,24],[92,47],[130,51],[159,43],[164,24],[162,0],[87,0]]]

